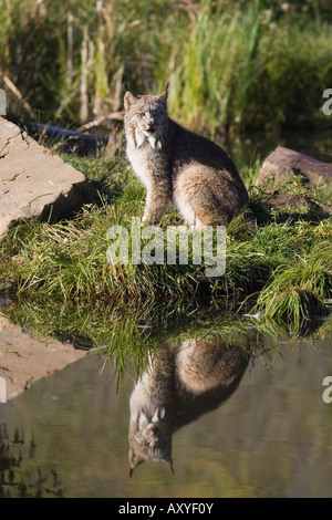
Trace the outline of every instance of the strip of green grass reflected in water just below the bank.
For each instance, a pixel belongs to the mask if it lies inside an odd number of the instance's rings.
[[[3,308],[2,308],[3,309]],[[243,311],[243,310],[242,310]],[[117,384],[124,375],[142,374],[148,354],[158,352],[163,342],[178,347],[183,342],[205,339],[228,346],[239,346],[251,356],[262,356],[266,365],[287,344],[299,349],[301,342],[314,345],[331,337],[332,321],[314,319],[298,323],[277,323],[252,318],[225,304],[219,309],[178,302],[174,305],[151,305],[135,310],[118,305],[45,300],[24,300],[7,305],[13,323],[37,337],[56,337],[75,349],[97,351],[115,367]]]

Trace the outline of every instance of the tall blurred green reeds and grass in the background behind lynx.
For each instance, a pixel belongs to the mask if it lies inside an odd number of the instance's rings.
[[[173,116],[210,135],[331,127],[322,113],[332,84],[331,6],[281,3],[2,0],[9,116],[75,127],[117,113],[124,82],[142,93],[169,81]]]

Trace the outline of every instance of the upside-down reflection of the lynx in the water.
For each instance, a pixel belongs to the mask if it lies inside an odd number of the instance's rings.
[[[163,460],[173,470],[172,435],[217,408],[238,386],[249,355],[221,340],[163,344],[131,396],[129,462]]]

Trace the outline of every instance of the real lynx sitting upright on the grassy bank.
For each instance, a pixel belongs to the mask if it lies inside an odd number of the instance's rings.
[[[127,157],[146,188],[143,221],[157,225],[174,206],[189,226],[227,226],[248,204],[246,187],[219,146],[168,117],[167,95],[168,84],[159,95],[124,96]]]

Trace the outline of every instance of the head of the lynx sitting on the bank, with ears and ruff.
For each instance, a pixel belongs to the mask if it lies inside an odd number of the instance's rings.
[[[124,106],[127,138],[133,139],[136,148],[148,142],[153,148],[160,149],[168,119],[167,90],[157,96],[126,92]]]

